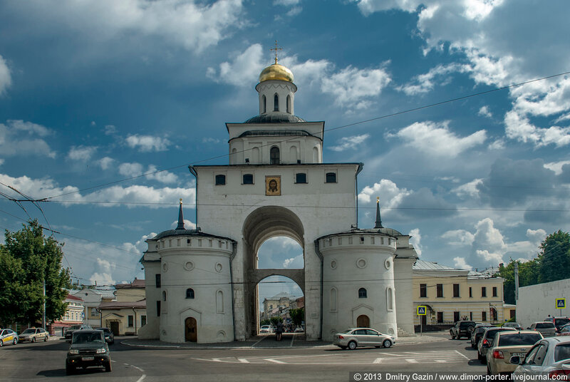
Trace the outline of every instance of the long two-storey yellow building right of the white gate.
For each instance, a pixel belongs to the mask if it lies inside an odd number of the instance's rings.
[[[413,266],[414,324],[452,324],[472,320],[491,324],[504,316],[503,282],[492,272],[475,272],[419,260]],[[425,316],[416,315],[418,306],[427,306]]]

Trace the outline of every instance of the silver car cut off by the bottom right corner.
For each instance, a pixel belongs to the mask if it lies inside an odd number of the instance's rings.
[[[544,376],[564,380],[570,376],[570,337],[549,337],[537,342],[525,357],[512,356],[515,376]],[[519,379],[519,378],[517,378]]]

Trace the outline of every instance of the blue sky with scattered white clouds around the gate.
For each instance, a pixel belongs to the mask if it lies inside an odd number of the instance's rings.
[[[180,197],[192,224],[187,165],[227,163],[224,123],[257,114],[278,40],[296,115],[326,121],[324,160],[365,164],[361,227],[378,196],[422,259],[529,259],[570,230],[568,76],[339,127],[568,72],[569,14],[563,0],[4,1],[0,182],[49,198],[46,218],[24,207],[61,232],[81,282],[142,277],[144,240],[175,227]],[[1,229],[26,212],[0,199]],[[260,266],[300,252],[273,239]]]

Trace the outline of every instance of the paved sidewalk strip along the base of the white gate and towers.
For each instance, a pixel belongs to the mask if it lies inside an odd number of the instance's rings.
[[[395,346],[403,344],[423,344],[425,342],[447,341],[447,337],[426,335],[398,337]],[[195,342],[185,342],[183,344],[173,344],[158,340],[142,340],[138,337],[122,339],[121,344],[140,348],[162,348],[162,349],[302,349],[333,346],[330,341],[306,341],[304,334],[283,334],[282,341],[275,341],[274,335],[255,336],[247,341],[222,342],[215,344],[197,344]]]

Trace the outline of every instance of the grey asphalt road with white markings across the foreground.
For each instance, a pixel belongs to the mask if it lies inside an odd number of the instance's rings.
[[[442,335],[443,336],[443,335]],[[444,337],[442,337],[444,338]],[[447,336],[448,338],[448,336]],[[110,346],[113,371],[66,376],[68,344],[48,341],[0,349],[0,381],[351,381],[350,372],[486,372],[469,341],[396,344],[390,349],[155,349]],[[403,381],[406,382],[406,381]]]

